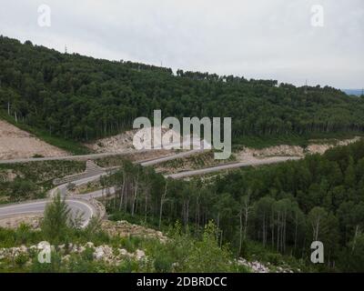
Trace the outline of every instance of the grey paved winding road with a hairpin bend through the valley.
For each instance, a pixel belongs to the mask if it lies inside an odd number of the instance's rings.
[[[163,156],[156,159],[150,159],[145,161],[138,162],[141,166],[154,166],[159,163],[163,163],[169,160],[191,156],[196,154],[197,152],[201,152],[203,149],[193,149],[187,152],[177,153],[171,156]],[[113,155],[120,155],[120,154],[93,154],[93,155],[86,155],[86,156],[62,156],[62,157],[45,157],[45,158],[29,158],[29,159],[16,159],[16,160],[7,160],[7,161],[0,161],[0,164],[9,164],[9,163],[24,163],[24,162],[31,162],[31,161],[40,161],[40,160],[60,160],[60,159],[89,159],[89,158],[96,158],[96,157],[103,157],[103,156],[113,156]],[[221,166],[213,166],[204,169],[197,169],[192,171],[181,172],[177,174],[167,175],[174,179],[184,178],[187,176],[198,176],[198,175],[205,175],[221,170],[228,170],[233,168],[238,168],[242,166],[260,166],[260,165],[267,165],[267,164],[274,164],[274,163],[281,163],[288,160],[298,159],[298,156],[274,156],[268,157],[264,159],[256,159],[253,161],[248,162],[238,162],[238,163],[230,163]],[[87,184],[91,181],[96,181],[100,178],[100,176],[107,175],[107,171],[105,170],[104,173],[98,174],[96,176],[89,176],[86,178],[82,178],[72,183],[76,186],[80,186],[83,184]],[[56,193],[60,193],[62,197],[66,198],[66,204],[71,209],[71,213],[73,215],[83,213],[83,225],[87,226],[88,222],[90,221],[92,216],[103,216],[105,215],[105,209],[101,209],[99,204],[96,203],[96,198],[103,196],[104,192],[101,190],[97,190],[92,193],[88,193],[85,195],[77,195],[77,196],[68,196],[67,195],[67,184],[63,184],[60,186],[56,186],[51,191],[49,191],[49,197],[54,196]],[[114,194],[115,189],[114,187],[109,188],[110,194]],[[18,204],[7,204],[5,206],[0,206],[0,220],[11,218],[14,216],[26,216],[32,214],[40,214],[45,211],[45,206],[49,203],[49,199],[42,199],[42,200],[34,200],[28,201],[24,203]]]

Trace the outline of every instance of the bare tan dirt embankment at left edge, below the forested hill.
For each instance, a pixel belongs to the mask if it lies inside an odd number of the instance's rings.
[[[0,120],[0,160],[67,155],[66,151],[48,145],[16,126]]]

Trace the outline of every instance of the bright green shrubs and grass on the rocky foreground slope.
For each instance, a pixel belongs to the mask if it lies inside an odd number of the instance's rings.
[[[79,218],[79,217],[78,217]],[[51,262],[38,261],[39,249],[29,247],[14,256],[0,256],[0,272],[247,272],[245,266],[234,263],[227,246],[218,246],[216,227],[209,223],[199,238],[181,231],[177,224],[169,231],[167,242],[137,236],[109,236],[97,218],[85,229],[70,215],[66,203],[59,196],[45,210],[40,230],[20,226],[16,230],[0,228],[1,247],[26,246],[47,241],[55,246]],[[86,244],[73,252],[68,246]],[[119,261],[106,261],[95,256],[95,247],[109,245],[113,253],[120,248],[127,252],[143,249],[146,256],[121,256]],[[62,246],[61,246],[62,245]],[[139,251],[140,252],[140,251]],[[3,254],[2,253],[2,254]],[[120,257],[120,256],[118,256]]]

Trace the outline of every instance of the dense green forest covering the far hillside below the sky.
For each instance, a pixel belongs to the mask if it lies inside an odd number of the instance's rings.
[[[278,84],[61,54],[0,36],[0,111],[79,141],[130,128],[137,116],[230,116],[246,136],[362,132],[364,99],[329,87]]]

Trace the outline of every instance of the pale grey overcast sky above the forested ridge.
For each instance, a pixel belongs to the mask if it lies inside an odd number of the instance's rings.
[[[38,25],[43,4],[50,27]],[[0,34],[174,70],[364,86],[364,0],[0,0]]]

